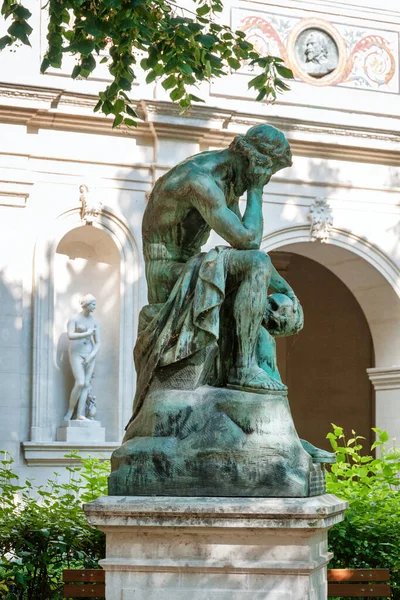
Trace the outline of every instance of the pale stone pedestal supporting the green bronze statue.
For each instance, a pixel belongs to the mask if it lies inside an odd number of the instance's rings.
[[[311,498],[103,497],[108,600],[326,600],[328,529],[343,502]]]

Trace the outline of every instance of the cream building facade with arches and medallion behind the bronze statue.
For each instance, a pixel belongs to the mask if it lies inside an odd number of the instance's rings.
[[[32,48],[0,55],[0,448],[37,480],[69,448],[109,455],[132,411],[132,348],[146,303],[141,218],[156,179],[268,122],[293,166],[264,191],[262,249],[297,292],[303,332],[279,367],[301,437],[328,447],[334,422],[400,440],[400,9],[395,1],[230,0],[222,19],[291,66],[291,91],[256,103],[247,65],[181,115],[139,75],[136,129],[93,113],[107,72],[73,81],[74,59],[40,74]],[[4,29],[6,26],[2,25]],[[220,243],[212,235],[208,246]],[[102,346],[92,382],[104,442],[57,441],[73,385],[66,323],[92,293]]]

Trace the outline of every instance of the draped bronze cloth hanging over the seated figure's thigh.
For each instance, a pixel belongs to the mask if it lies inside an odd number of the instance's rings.
[[[134,350],[136,395],[130,422],[142,408],[157,368],[217,343],[231,252],[232,248],[217,246],[197,254],[184,265],[167,302],[149,304],[141,310]]]

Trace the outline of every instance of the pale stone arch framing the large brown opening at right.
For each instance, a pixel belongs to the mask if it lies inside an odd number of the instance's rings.
[[[334,229],[329,242],[310,242],[307,226],[266,236],[263,250],[292,252],[334,273],[351,291],[367,320],[375,365],[368,376],[376,391],[375,424],[400,439],[400,271],[376,246]],[[356,427],[355,427],[356,429]]]

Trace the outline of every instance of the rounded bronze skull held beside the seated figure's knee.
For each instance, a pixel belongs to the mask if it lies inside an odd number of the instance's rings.
[[[303,309],[299,304],[295,311],[293,301],[285,294],[270,294],[263,325],[274,337],[294,335],[303,329]]]

